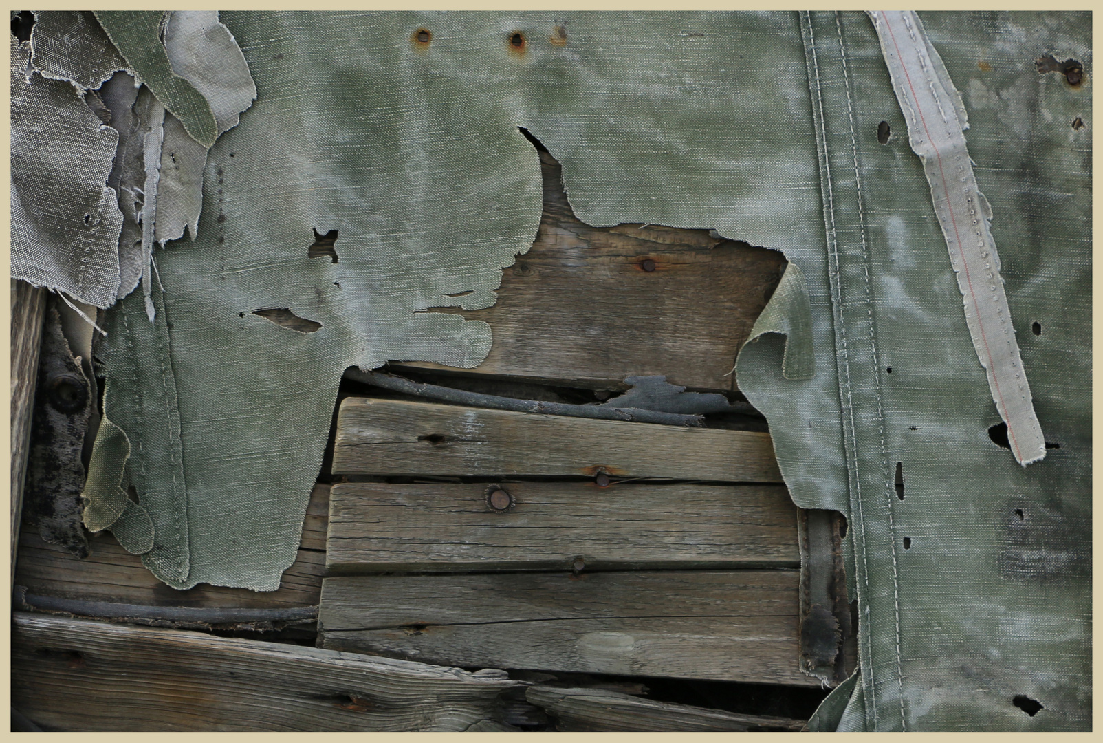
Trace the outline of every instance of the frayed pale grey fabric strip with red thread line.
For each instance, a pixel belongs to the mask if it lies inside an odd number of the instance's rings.
[[[964,299],[965,320],[1015,460],[1026,467],[1046,457],[1030,385],[999,275],[988,223],[992,208],[977,188],[965,147],[968,128],[961,94],[911,11],[869,13],[880,39],[911,149],[922,159],[934,212]]]

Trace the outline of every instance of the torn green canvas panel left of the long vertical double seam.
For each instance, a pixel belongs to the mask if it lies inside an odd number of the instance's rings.
[[[485,358],[485,323],[424,310],[493,304],[535,237],[539,163],[518,127],[564,163],[590,223],[818,242],[803,71],[740,62],[799,60],[795,15],[582,13],[561,19],[566,46],[546,13],[221,18],[257,102],[211,150],[196,241],[154,252],[154,323],[121,301],[104,352],[105,406],[156,527],[146,562],[170,585],[277,587],[345,368]],[[314,230],[339,231],[339,263],[308,257]]]

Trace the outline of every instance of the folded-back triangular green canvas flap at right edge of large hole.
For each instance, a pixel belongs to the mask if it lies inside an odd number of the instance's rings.
[[[778,288],[767,304],[740,351],[741,357],[751,341],[768,332],[785,337],[781,359],[781,375],[786,380],[808,380],[815,373],[816,360],[812,352],[812,305],[808,302],[804,274],[795,263],[790,263],[782,274]],[[739,362],[736,362],[739,368]],[[739,374],[736,374],[737,383]],[[742,384],[739,385],[740,389]]]

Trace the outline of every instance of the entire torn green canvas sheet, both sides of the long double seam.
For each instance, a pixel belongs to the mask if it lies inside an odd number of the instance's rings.
[[[1060,445],[1043,461],[989,438],[999,415],[865,14],[226,12],[257,102],[211,150],[197,240],[156,251],[153,323],[133,296],[108,317],[105,406],[154,524],[146,563],[178,587],[275,588],[342,371],[485,357],[484,323],[425,310],[493,304],[533,240],[525,127],[579,219],[715,229],[804,277],[811,321],[774,327],[808,328],[811,376],[770,331],[738,379],[794,501],[848,518],[861,675],[839,728],[1090,729],[1090,15],[922,18]],[[1036,72],[1050,52],[1088,82]],[[339,231],[339,263],[308,257],[314,230]]]

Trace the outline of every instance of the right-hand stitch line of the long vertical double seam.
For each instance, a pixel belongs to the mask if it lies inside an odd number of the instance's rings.
[[[907,719],[904,717],[903,709],[903,662],[901,660],[900,650],[900,577],[899,570],[897,566],[897,550],[896,550],[896,523],[892,518],[892,496],[890,491],[890,479],[889,479],[889,458],[888,450],[885,445],[885,407],[881,401],[881,378],[880,378],[880,362],[877,357],[877,339],[874,335],[874,298],[872,289],[869,282],[869,247],[866,243],[866,220],[863,211],[861,204],[861,177],[858,169],[858,141],[857,135],[854,130],[854,107],[850,102],[850,76],[846,67],[846,45],[843,42],[843,22],[840,20],[838,11],[835,12],[835,26],[838,30],[838,49],[839,56],[843,63],[843,83],[846,91],[846,113],[849,118],[850,124],[850,151],[854,153],[854,183],[857,189],[858,195],[858,232],[861,236],[861,258],[863,258],[863,275],[865,277],[866,285],[866,314],[869,320],[869,348],[872,352],[874,360],[874,394],[877,397],[877,427],[880,435],[881,442],[881,461],[884,463],[884,474],[885,474],[885,496],[888,499],[888,516],[889,516],[889,550],[892,555],[892,599],[896,608],[896,656],[897,656],[897,680],[899,682],[900,689],[900,725],[902,730],[908,730]]]

